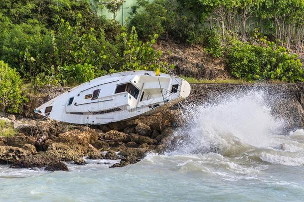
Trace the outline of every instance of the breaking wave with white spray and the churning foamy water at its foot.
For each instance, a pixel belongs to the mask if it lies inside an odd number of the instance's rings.
[[[175,132],[169,150],[145,160],[227,180],[254,178],[270,165],[304,166],[304,130],[286,133],[286,121],[272,113],[274,102],[266,92],[221,100],[188,106],[186,124]]]

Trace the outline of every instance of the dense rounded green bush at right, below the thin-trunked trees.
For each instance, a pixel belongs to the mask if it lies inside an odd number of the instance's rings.
[[[265,46],[234,41],[227,51],[231,74],[248,81],[272,79],[288,82],[304,81],[303,65],[297,54],[266,41]]]

